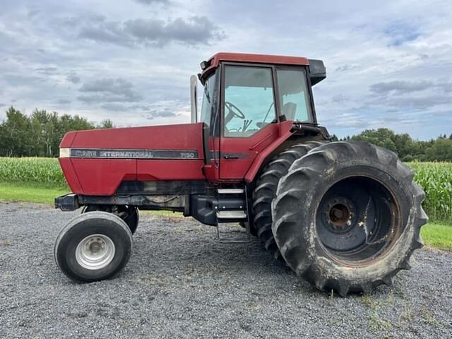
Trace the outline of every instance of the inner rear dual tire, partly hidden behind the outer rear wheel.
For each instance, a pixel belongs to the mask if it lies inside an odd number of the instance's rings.
[[[256,189],[253,192],[253,228],[263,246],[274,258],[280,258],[280,251],[271,231],[271,202],[275,198],[278,182],[287,174],[295,160],[319,145],[322,143],[311,141],[287,148],[264,167],[261,176],[257,179]]]

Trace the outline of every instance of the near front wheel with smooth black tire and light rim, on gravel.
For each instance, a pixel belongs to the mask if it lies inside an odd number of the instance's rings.
[[[78,215],[59,233],[55,262],[78,283],[112,278],[129,261],[132,233],[124,220],[107,212]]]

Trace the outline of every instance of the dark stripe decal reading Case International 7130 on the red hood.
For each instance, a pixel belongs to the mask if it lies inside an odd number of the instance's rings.
[[[100,157],[103,159],[197,159],[198,151],[71,148],[71,157]]]

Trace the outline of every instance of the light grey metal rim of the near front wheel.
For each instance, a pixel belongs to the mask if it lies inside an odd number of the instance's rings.
[[[112,262],[116,248],[105,234],[90,234],[78,243],[77,263],[87,270],[100,270]]]

